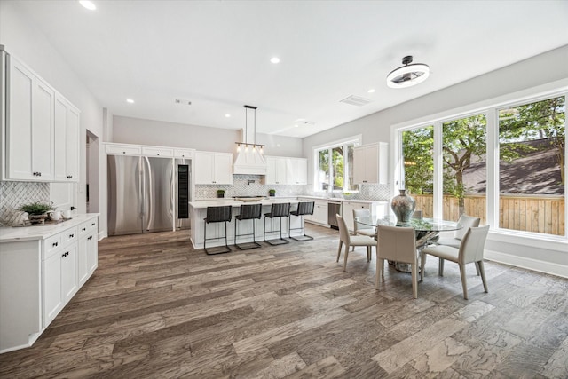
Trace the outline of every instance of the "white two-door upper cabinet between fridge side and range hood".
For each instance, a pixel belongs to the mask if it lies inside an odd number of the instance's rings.
[[[232,185],[233,154],[195,152],[196,185]]]

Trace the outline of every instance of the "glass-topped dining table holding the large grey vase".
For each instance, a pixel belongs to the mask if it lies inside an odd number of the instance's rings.
[[[418,267],[422,267],[420,262],[420,250],[436,241],[438,234],[441,232],[452,232],[459,230],[463,227],[455,221],[444,220],[440,218],[411,218],[406,223],[399,223],[397,217],[387,216],[378,217],[372,215],[370,217],[355,217],[355,222],[358,227],[373,227],[376,225],[391,225],[399,227],[412,227],[414,228],[414,235],[416,238],[416,254],[418,256]],[[376,231],[375,231],[376,239]],[[401,272],[410,272],[410,265],[395,261],[389,261],[395,269]]]

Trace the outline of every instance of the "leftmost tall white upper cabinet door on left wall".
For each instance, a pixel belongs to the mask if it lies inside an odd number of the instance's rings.
[[[35,76],[15,59],[8,75],[9,112],[6,125],[7,173],[9,179],[33,179],[32,98]]]

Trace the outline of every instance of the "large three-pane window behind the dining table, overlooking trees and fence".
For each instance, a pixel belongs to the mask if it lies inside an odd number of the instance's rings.
[[[566,237],[564,94],[398,130],[399,188],[426,217]]]

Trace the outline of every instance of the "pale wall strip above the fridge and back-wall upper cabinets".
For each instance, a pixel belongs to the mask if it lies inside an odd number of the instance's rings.
[[[186,147],[201,151],[233,153],[235,142],[243,141],[242,130],[209,128],[114,115],[113,142]],[[248,141],[251,141],[249,138]],[[266,155],[302,157],[300,138],[256,134],[256,143],[265,145]]]

